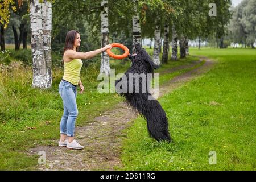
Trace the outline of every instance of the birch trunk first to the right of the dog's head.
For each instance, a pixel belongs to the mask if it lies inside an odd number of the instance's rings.
[[[155,43],[154,43],[154,51],[153,51],[153,61],[156,65],[160,64],[159,57],[159,46],[160,46],[160,26],[158,17],[155,19]]]

